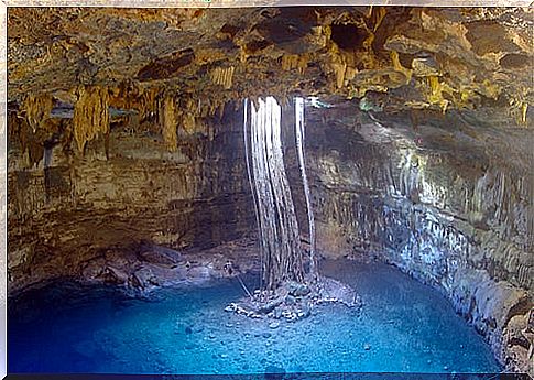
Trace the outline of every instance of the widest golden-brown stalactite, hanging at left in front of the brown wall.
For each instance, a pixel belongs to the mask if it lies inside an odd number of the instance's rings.
[[[109,133],[109,95],[106,87],[78,88],[78,100],[74,105],[74,138],[80,152],[88,141],[99,133]]]

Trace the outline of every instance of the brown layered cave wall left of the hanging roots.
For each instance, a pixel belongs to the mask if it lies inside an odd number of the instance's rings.
[[[161,133],[135,129],[128,118],[111,123],[107,144],[102,135],[83,154],[56,144],[35,164],[13,135],[8,173],[10,294],[58,276],[85,276],[95,267],[103,271],[110,251],[113,263],[143,241],[206,249],[249,234],[254,219],[241,113],[228,105],[224,122],[206,119],[194,134],[178,129],[175,152],[167,150]],[[11,121],[13,129],[24,123]]]

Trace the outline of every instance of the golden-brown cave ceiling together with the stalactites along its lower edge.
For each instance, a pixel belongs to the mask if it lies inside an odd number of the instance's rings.
[[[37,142],[57,130],[43,122],[52,109],[72,117],[78,107],[78,124],[98,123],[91,112],[107,105],[146,118],[172,97],[187,130],[233,100],[303,95],[335,105],[331,118],[347,123],[355,108],[390,132],[431,120],[437,133],[415,129],[410,140],[464,151],[489,144],[500,156],[523,146],[521,161],[532,142],[533,51],[524,8],[10,8],[8,97]],[[457,133],[440,115],[470,127]],[[80,149],[107,131],[76,122]]]

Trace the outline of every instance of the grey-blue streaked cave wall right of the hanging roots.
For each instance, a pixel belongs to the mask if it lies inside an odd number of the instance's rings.
[[[350,120],[323,110],[307,121],[320,253],[395,264],[442,291],[506,368],[532,371],[530,132],[515,131],[514,162],[501,156],[511,146],[480,149],[480,135],[464,150],[458,115],[429,113],[422,140],[406,115],[356,108]]]

